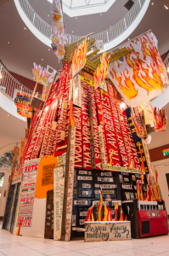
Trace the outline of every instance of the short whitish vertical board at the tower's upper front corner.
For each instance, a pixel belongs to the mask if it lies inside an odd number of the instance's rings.
[[[73,104],[82,108],[81,76],[76,75],[73,79]]]

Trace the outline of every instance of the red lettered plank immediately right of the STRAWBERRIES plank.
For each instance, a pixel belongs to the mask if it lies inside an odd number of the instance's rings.
[[[120,150],[120,154],[121,154],[122,166],[128,167],[129,161],[127,158],[127,151],[126,151],[124,140],[122,137],[119,115],[117,113],[117,108],[115,105],[115,90],[114,90],[113,86],[110,85],[109,83],[107,83],[107,88],[108,88],[108,92],[109,92],[109,96],[110,96],[111,114],[112,114],[114,124],[115,124],[115,131],[116,131],[117,142],[118,142],[118,146],[119,146],[119,150]]]

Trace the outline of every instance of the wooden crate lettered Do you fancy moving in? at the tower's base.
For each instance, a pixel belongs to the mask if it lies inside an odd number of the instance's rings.
[[[113,241],[130,239],[130,221],[87,221],[85,223],[85,241]]]

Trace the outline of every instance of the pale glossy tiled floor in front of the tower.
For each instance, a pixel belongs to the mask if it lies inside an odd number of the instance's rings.
[[[54,241],[0,230],[0,256],[169,256],[169,236],[130,241]]]

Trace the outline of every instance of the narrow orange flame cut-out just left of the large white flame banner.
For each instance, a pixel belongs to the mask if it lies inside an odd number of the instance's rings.
[[[94,87],[95,90],[99,87],[100,84],[104,82],[104,79],[108,75],[108,66],[110,61],[110,55],[106,58],[106,51],[104,51],[102,57],[100,57],[101,64],[94,72]]]

